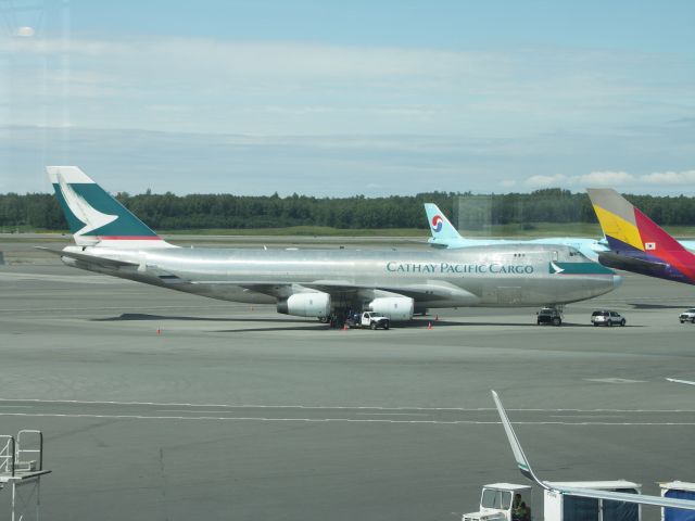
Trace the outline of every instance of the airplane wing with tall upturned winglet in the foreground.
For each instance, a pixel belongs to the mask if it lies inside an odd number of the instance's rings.
[[[593,499],[635,503],[640,505],[653,505],[657,507],[695,510],[695,500],[692,500],[692,499],[675,499],[675,498],[661,497],[661,496],[648,496],[645,494],[629,494],[624,492],[578,488],[572,486],[559,485],[557,483],[551,483],[547,481],[542,481],[533,472],[533,469],[531,468],[531,463],[529,462],[529,459],[526,457],[526,454],[521,448],[519,439],[517,437],[517,434],[514,432],[514,429],[511,428],[511,422],[507,417],[507,412],[502,406],[502,401],[500,399],[500,396],[497,395],[497,393],[492,391],[492,397],[495,401],[495,406],[497,407],[497,414],[500,415],[500,419],[502,420],[502,424],[507,434],[507,440],[509,441],[509,445],[511,446],[511,452],[514,453],[514,458],[516,459],[519,471],[521,471],[521,474],[523,474],[525,478],[533,481],[535,484],[538,484],[542,488],[546,491],[552,491],[556,494],[561,494],[567,496],[590,497]]]

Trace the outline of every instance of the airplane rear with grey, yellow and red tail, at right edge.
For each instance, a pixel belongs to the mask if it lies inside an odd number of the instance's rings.
[[[589,188],[609,250],[604,266],[695,284],[695,241],[677,241],[611,188]]]

